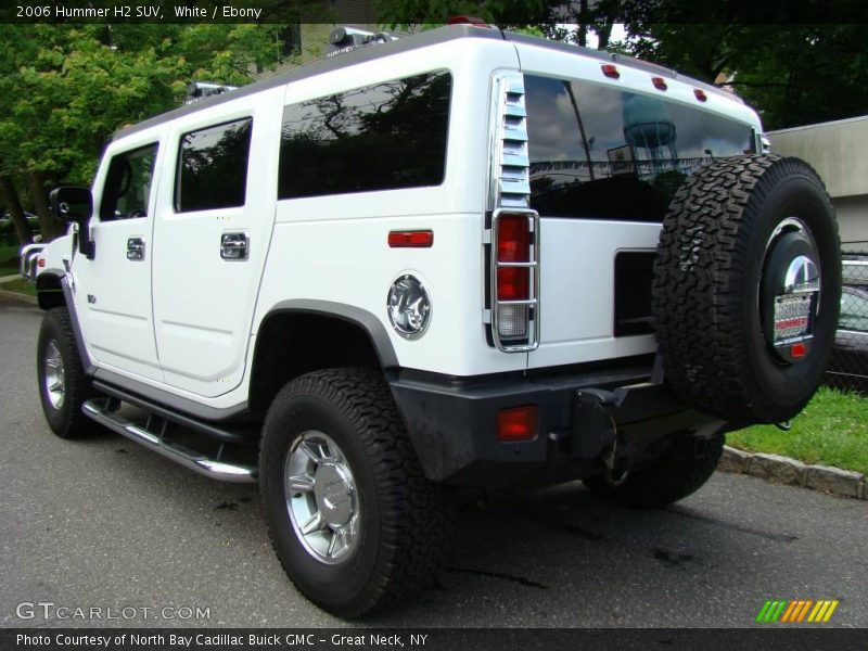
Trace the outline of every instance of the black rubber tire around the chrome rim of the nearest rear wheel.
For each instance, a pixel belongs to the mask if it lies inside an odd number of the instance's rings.
[[[290,518],[284,463],[311,432],[339,446],[360,509],[355,546],[336,564],[308,551]],[[275,551],[295,586],[323,610],[358,617],[433,577],[446,526],[443,495],[425,478],[379,372],[317,371],[284,386],[266,418],[259,469]]]

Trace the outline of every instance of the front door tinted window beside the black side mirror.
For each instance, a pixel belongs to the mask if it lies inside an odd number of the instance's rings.
[[[102,221],[148,216],[156,150],[149,144],[112,156],[100,201]]]

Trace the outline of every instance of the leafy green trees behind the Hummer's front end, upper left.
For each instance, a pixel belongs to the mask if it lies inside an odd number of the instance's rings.
[[[24,179],[12,191],[52,239],[48,183],[89,184],[112,135],[179,105],[191,80],[248,82],[278,61],[277,28],[0,25],[0,176]]]

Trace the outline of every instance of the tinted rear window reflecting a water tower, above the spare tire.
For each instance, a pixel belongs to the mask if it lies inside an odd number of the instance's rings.
[[[752,150],[751,127],[601,84],[525,75],[531,205],[540,215],[662,221],[685,178]]]

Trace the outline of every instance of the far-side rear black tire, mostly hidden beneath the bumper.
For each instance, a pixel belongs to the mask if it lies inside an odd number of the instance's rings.
[[[699,490],[714,473],[723,454],[723,436],[707,441],[681,436],[660,459],[633,472],[620,486],[609,485],[602,475],[588,477],[584,483],[607,501],[639,509],[661,509]]]

